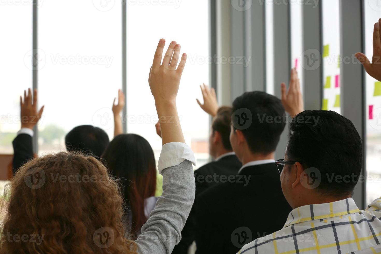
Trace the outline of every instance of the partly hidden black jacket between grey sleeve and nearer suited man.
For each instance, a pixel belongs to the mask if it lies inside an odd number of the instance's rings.
[[[235,155],[228,155],[218,161],[210,162],[194,171],[196,181],[196,196],[210,187],[227,182],[230,176],[235,178],[242,163]],[[172,251],[172,254],[187,254],[189,246],[195,240],[195,212],[192,208],[187,222],[181,231],[182,239]]]

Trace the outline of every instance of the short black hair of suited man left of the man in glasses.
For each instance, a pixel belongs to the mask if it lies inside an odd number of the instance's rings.
[[[241,117],[242,112],[248,118],[248,113],[251,114],[250,126],[241,129],[251,153],[274,152],[286,125],[280,99],[262,91],[246,92],[234,100],[232,118]],[[234,130],[236,127],[233,124]]]

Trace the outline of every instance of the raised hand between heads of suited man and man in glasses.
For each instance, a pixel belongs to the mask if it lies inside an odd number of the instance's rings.
[[[282,104],[291,117],[295,117],[304,110],[303,96],[300,91],[300,80],[296,69],[291,69],[290,85],[287,92],[285,83],[281,84]]]

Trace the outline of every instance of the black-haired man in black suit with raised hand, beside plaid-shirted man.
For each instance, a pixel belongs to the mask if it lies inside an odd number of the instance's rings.
[[[293,110],[291,115],[303,107],[298,104],[298,86],[293,69],[290,89],[282,95],[285,106]],[[282,92],[286,93],[283,88]],[[234,100],[233,112],[230,141],[243,166],[234,179],[197,196],[196,253],[236,253],[253,236],[282,228],[291,211],[274,164],[285,128],[282,102],[264,92],[248,92]],[[276,211],[276,216],[264,219],[269,211]]]

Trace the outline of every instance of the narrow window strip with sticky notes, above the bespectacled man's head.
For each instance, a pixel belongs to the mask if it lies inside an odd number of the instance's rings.
[[[340,113],[340,1],[323,0],[322,109]]]

